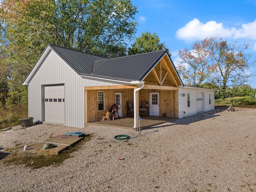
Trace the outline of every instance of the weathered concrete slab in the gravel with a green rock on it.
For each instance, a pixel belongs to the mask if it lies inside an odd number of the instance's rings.
[[[49,155],[49,154],[60,154],[63,150],[69,146],[74,145],[76,142],[81,140],[84,137],[72,137],[72,138],[62,138],[62,137],[53,137],[46,141],[39,142],[27,148],[27,150],[22,150],[17,152],[17,157],[32,157],[39,155]],[[52,143],[57,147],[44,150],[44,144]]]

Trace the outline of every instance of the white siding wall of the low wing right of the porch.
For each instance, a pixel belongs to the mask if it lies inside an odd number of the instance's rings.
[[[188,94],[190,106],[188,106]],[[178,97],[179,118],[214,110],[214,90],[212,89],[180,86]]]

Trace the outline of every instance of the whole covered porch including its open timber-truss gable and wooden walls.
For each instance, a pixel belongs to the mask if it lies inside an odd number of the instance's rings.
[[[140,60],[138,65],[141,62]],[[138,128],[138,116],[142,114],[149,116],[149,118],[142,117],[143,127],[166,122],[168,118],[178,118],[178,87],[182,85],[182,82],[170,57],[165,53],[153,60],[150,68],[147,68],[146,60],[143,60],[143,63],[145,69],[141,74],[144,75],[140,78],[133,76],[137,73],[134,71],[129,79],[104,79],[106,82],[115,82],[115,85],[84,87],[85,124],[107,123],[114,126],[116,120],[100,121],[107,116],[107,112],[111,111],[114,104],[118,106],[118,116],[123,119],[120,120],[120,126],[125,122],[122,127]],[[124,74],[124,71],[121,74]],[[129,112],[130,108],[132,108],[132,113]],[[126,119],[127,116],[133,118]],[[155,117],[158,119],[153,120],[152,118]],[[166,117],[166,120],[162,120],[162,117]]]

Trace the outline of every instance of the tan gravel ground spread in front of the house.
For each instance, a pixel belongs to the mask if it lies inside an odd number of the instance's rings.
[[[0,133],[0,153],[63,132],[93,134],[73,158],[33,170],[0,161],[1,192],[256,192],[256,109],[221,108],[138,132],[42,124]],[[14,127],[12,130],[20,128]],[[125,158],[118,160],[118,157]]]

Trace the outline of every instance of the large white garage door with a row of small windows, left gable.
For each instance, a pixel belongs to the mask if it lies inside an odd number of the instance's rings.
[[[65,123],[64,86],[44,87],[44,120]]]

